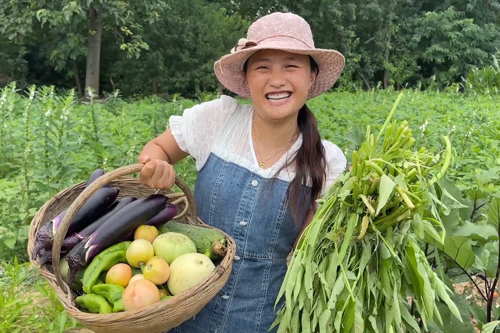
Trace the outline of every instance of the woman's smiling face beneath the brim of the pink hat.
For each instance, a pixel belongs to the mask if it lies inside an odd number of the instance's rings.
[[[309,56],[263,49],[247,61],[246,82],[253,106],[261,118],[284,120],[296,117],[314,83]]]

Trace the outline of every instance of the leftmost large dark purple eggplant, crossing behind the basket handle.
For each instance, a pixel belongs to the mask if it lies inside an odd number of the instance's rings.
[[[106,209],[114,202],[114,200],[116,200],[118,193],[119,188],[117,187],[101,187],[97,191],[95,191],[95,193],[83,204],[83,206],[75,214],[75,216],[69,223],[69,227],[65,236],[72,234],[76,230],[80,230],[83,226],[92,223],[93,221],[104,215]],[[44,226],[42,226],[36,233],[34,242],[35,245],[33,247],[33,252],[31,253],[32,260],[36,259],[38,251],[41,248],[52,248],[55,231],[60,227],[60,223],[62,221],[62,218],[58,218],[61,214],[59,214],[49,223],[46,223]]]

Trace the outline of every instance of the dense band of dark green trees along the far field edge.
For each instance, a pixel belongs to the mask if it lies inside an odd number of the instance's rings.
[[[444,88],[500,49],[499,0],[0,0],[0,85],[220,90],[213,62],[272,11],[301,15],[317,47],[345,55],[345,89]]]

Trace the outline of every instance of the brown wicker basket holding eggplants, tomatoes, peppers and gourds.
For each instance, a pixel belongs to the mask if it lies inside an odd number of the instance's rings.
[[[208,226],[197,218],[194,198],[190,189],[178,177],[175,177],[175,184],[183,193],[174,193],[171,190],[155,191],[142,185],[136,178],[125,177],[139,172],[142,166],[143,164],[133,164],[121,167],[99,177],[87,188],[85,188],[86,182],[82,182],[60,191],[38,210],[29,226],[27,251],[29,258],[31,258],[36,232],[41,226],[69,207],[66,216],[61,222],[61,227],[54,235],[52,247],[53,265],[38,267],[36,261],[31,259],[30,261],[54,288],[69,315],[78,320],[84,327],[96,333],[166,332],[198,313],[222,289],[231,271],[232,258],[235,253],[234,241],[223,231]],[[216,229],[224,235],[227,242],[225,257],[214,262],[216,267],[207,278],[170,299],[134,311],[113,314],[89,314],[79,311],[74,304],[75,295],[63,282],[59,272],[60,249],[69,221],[86,200],[106,183],[109,183],[110,186],[119,187],[118,198],[124,196],[146,197],[153,193],[168,196],[169,201],[177,205],[178,214],[173,218],[174,220]]]

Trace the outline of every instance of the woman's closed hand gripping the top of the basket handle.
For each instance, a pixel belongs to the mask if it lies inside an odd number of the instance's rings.
[[[168,162],[142,156],[139,157],[139,163],[144,164],[139,173],[141,184],[153,189],[168,189],[175,184],[175,171]]]

